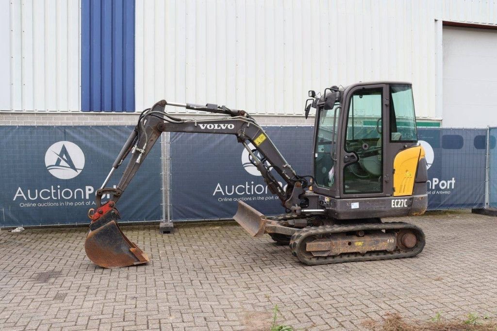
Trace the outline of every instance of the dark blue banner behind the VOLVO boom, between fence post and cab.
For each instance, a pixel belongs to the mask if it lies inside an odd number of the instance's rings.
[[[265,130],[298,174],[312,173],[313,127]],[[239,200],[266,215],[285,212],[235,136],[171,133],[170,137],[172,220],[231,218]]]

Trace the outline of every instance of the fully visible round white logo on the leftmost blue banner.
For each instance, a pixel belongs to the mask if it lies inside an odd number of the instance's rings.
[[[70,141],[59,141],[45,153],[47,170],[57,178],[71,179],[80,174],[84,167],[81,148]]]

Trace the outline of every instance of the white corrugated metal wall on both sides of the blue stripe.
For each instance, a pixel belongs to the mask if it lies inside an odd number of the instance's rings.
[[[407,80],[437,119],[441,20],[497,24],[496,0],[136,0],[136,109],[300,115],[308,89]],[[80,36],[80,0],[0,0],[0,110],[79,111]]]

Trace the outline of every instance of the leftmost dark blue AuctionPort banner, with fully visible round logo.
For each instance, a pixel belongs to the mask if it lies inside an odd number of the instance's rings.
[[[0,126],[0,227],[89,224],[95,191],[132,129]],[[122,221],[161,219],[159,145],[118,202]],[[117,184],[125,165],[107,186]]]

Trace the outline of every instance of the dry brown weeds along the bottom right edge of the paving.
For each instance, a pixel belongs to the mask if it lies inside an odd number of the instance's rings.
[[[497,322],[489,316],[482,319],[476,313],[462,320],[445,320],[439,312],[428,321],[407,320],[394,313],[387,314],[383,321],[369,320],[363,325],[371,331],[497,331]]]

